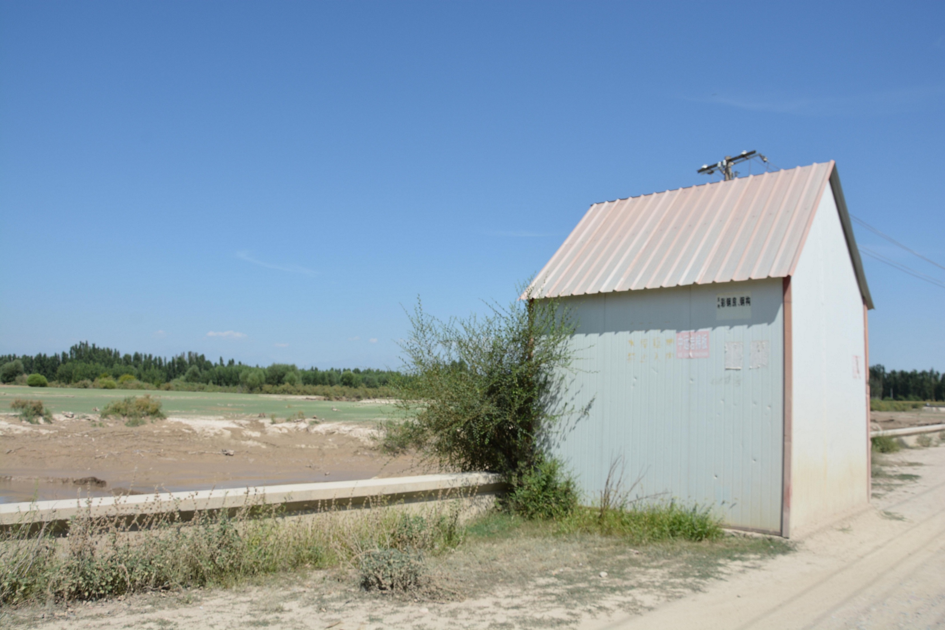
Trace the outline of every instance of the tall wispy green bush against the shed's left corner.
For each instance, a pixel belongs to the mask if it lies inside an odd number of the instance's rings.
[[[570,313],[554,300],[525,296],[506,307],[490,304],[487,315],[447,321],[418,300],[408,317],[407,378],[398,385],[405,419],[388,425],[387,447],[414,447],[444,468],[489,470],[515,486],[527,480],[558,491],[561,469],[542,467],[555,425],[573,411],[557,400],[572,361]]]

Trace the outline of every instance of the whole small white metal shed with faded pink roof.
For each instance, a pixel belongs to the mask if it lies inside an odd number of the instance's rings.
[[[579,326],[558,456],[790,536],[869,501],[867,311],[834,162],[596,203],[530,287]]]

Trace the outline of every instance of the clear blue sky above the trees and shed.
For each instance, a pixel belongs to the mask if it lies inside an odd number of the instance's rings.
[[[591,203],[743,149],[836,160],[852,213],[945,264],[943,18],[0,3],[0,353],[395,367],[418,295],[437,315],[511,299]],[[945,368],[945,289],[866,265],[872,363]]]

